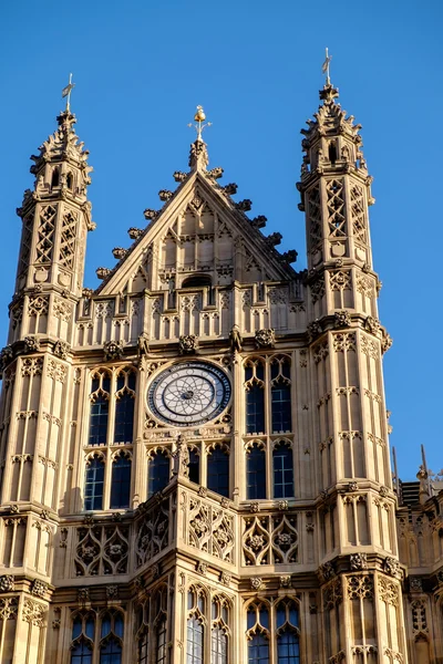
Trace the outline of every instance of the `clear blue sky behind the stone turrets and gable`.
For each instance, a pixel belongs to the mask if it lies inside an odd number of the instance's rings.
[[[14,210],[32,186],[29,156],[55,127],[69,72],[78,134],[94,167],[85,286],[113,267],[113,247],[159,207],[157,191],[186,170],[186,124],[196,104],[214,123],[210,165],[236,181],[266,232],[284,235],[306,267],[303,215],[295,183],[299,131],[317,110],[324,46],[340,101],[363,125],[374,176],[371,231],[383,289],[380,318],[394,339],[385,387],[403,479],[420,444],[443,466],[441,311],[442,49],[440,0],[54,0],[0,8],[0,338],[20,237]]]

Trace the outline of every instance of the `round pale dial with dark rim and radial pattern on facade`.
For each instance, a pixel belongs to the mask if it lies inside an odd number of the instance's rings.
[[[158,419],[174,426],[204,424],[228,405],[230,383],[224,371],[206,362],[181,362],[151,384],[147,401]]]

